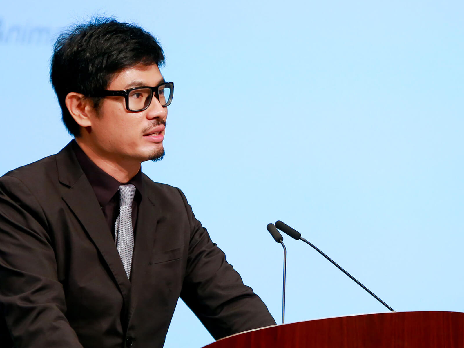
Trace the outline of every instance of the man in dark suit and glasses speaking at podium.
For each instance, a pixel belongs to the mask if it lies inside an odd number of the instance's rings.
[[[0,178],[2,347],[162,347],[179,297],[215,339],[275,324],[183,193],[141,172],[164,155],[163,63],[152,35],[110,19],[58,38],[75,140]]]

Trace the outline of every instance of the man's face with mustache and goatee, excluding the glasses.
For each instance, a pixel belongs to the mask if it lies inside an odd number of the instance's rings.
[[[124,69],[111,80],[108,90],[157,86],[163,77],[156,64]],[[92,117],[90,139],[94,151],[109,161],[147,161],[164,155],[163,138],[168,108],[153,97],[147,110],[126,110],[124,97],[104,97]]]

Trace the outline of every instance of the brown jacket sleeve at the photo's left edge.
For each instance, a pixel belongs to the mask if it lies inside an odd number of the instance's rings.
[[[19,179],[0,179],[0,307],[15,347],[82,348],[64,312],[53,236]],[[3,344],[3,343],[2,343]]]

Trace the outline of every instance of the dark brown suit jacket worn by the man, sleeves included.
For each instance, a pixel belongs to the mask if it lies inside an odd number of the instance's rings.
[[[178,188],[143,175],[129,282],[70,144],[0,178],[1,347],[162,347],[179,296],[216,339],[275,323]]]

